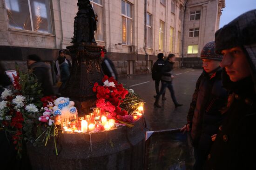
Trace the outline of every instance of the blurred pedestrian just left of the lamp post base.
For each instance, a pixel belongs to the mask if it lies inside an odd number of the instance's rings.
[[[59,90],[61,91],[70,77],[71,63],[66,59],[65,52],[63,50],[59,51],[59,56],[54,64],[54,72],[57,76],[57,81],[61,83]]]

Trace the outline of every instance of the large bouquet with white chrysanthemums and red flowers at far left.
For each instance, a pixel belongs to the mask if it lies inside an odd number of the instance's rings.
[[[34,77],[18,72],[14,76],[14,89],[4,89],[0,102],[0,127],[11,138],[18,156],[22,154],[23,141],[30,140],[33,134],[34,121],[41,108],[42,96],[40,85]]]

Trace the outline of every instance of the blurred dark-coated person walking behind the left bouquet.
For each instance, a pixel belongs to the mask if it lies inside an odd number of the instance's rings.
[[[50,81],[51,67],[41,62],[38,55],[32,54],[27,56],[27,65],[33,70],[33,74],[41,84],[42,93],[45,96],[54,95],[53,85]]]

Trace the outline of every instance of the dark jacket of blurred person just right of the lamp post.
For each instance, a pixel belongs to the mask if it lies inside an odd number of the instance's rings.
[[[105,56],[105,58],[101,62],[101,68],[105,75],[108,77],[114,77],[116,80],[118,80],[118,74],[115,70],[115,65],[111,61],[111,59],[108,59],[108,57]]]

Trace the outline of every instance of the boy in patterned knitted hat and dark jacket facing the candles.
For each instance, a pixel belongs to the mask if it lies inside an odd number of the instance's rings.
[[[221,109],[227,101],[227,91],[222,87],[222,55],[215,53],[215,42],[207,43],[201,52],[203,72],[198,78],[187,116],[181,131],[191,131],[195,164],[193,170],[202,170],[215,135],[221,124]]]

